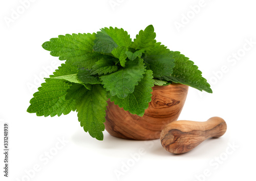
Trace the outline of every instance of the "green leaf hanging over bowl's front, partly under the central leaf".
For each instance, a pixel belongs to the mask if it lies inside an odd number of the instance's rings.
[[[134,92],[129,94],[124,99],[120,99],[117,96],[111,96],[111,101],[115,102],[120,108],[125,111],[129,111],[132,114],[143,116],[145,109],[148,108],[148,103],[151,101],[152,87],[154,86],[154,80],[152,76],[152,70],[147,70],[144,74],[143,79],[135,86]]]

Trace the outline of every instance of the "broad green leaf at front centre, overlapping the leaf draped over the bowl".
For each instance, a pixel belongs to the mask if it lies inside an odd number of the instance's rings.
[[[135,85],[138,85],[145,71],[143,60],[137,59],[126,62],[124,68],[114,73],[100,76],[100,80],[112,96],[117,95],[119,98],[125,98],[134,91]]]

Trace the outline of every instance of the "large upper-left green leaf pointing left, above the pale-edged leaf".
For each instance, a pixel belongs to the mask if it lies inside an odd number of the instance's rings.
[[[59,60],[67,60],[79,67],[91,69],[95,62],[103,55],[93,52],[94,34],[66,34],[52,38],[42,44],[42,47],[51,51],[51,55]]]

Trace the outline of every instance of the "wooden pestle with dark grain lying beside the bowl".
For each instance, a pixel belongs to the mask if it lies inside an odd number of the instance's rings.
[[[174,121],[163,128],[160,141],[167,151],[180,154],[190,151],[210,137],[221,137],[226,130],[227,124],[220,117],[212,117],[205,122]]]

